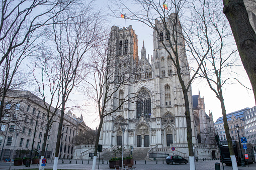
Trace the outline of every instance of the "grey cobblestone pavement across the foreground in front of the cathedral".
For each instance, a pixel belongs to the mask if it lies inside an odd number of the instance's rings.
[[[215,169],[215,162],[219,162],[219,160],[208,160],[208,161],[198,161],[196,162],[196,169],[205,169],[205,170],[212,170],[212,169]],[[82,164],[83,163],[83,164]],[[81,160],[77,160],[77,163],[76,163],[76,160],[72,160],[71,164],[69,163],[68,160],[64,160],[64,163],[62,163],[62,160],[59,160],[58,162],[58,169],[91,169],[92,168],[92,163],[93,161],[90,160],[89,161],[89,164],[88,164],[88,160],[83,160],[83,162]],[[4,162],[1,162],[0,163],[0,169],[8,169],[9,168],[9,164],[10,162],[7,162],[7,163],[4,163]],[[221,163],[220,163],[221,164]],[[98,162],[97,162],[97,169],[98,169]],[[38,165],[39,166],[39,165]],[[37,165],[36,164],[32,164],[30,167],[26,167],[25,165],[21,165],[21,166],[14,166],[12,164],[11,166],[11,169],[28,169],[28,168],[36,168]],[[45,168],[52,168],[53,167],[53,161],[52,163],[47,160],[47,163],[46,163],[46,166]],[[183,169],[189,169],[189,163],[188,164],[175,164],[175,165],[172,165],[172,164],[166,164],[165,161],[157,161],[157,164],[156,164],[156,161],[152,160],[152,161],[149,161],[147,160],[146,161],[146,164],[145,164],[145,160],[139,160],[139,161],[136,161],[136,164],[135,164],[135,161],[134,161],[134,165],[133,167],[136,167],[136,170],[146,170],[146,169],[151,169],[151,170],[165,170],[165,169],[177,169],[177,170],[183,170]],[[102,164],[102,161],[100,161],[100,169],[111,169],[109,168],[109,164],[107,164],[107,160],[104,161],[104,164]],[[226,166],[224,164],[224,170],[231,170],[232,167],[231,166]],[[255,170],[256,169],[256,163],[253,163],[253,164],[249,164],[249,167],[247,167],[247,165],[245,167],[242,167],[242,166],[238,166],[238,169],[239,170]],[[222,164],[221,164],[221,170],[223,170],[222,168]]]

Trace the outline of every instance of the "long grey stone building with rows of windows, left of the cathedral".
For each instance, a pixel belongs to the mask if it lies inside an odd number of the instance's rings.
[[[51,108],[52,110],[54,108]],[[29,91],[11,90],[5,100],[5,112],[6,114],[2,117],[0,125],[0,153],[2,152],[2,158],[10,158],[14,147],[15,150],[31,150],[34,133],[33,148],[41,150],[47,121],[47,112],[43,101]],[[45,148],[45,156],[47,158],[52,158],[55,154],[60,110],[57,110],[53,120]],[[72,158],[73,137],[79,132],[89,129],[83,122],[82,116],[78,118],[68,111],[64,115],[59,158]],[[17,137],[16,133],[18,133]]]

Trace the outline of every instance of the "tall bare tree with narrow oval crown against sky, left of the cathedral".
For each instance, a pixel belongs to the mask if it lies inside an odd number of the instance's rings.
[[[77,4],[70,6],[68,11],[54,19],[52,33],[47,35],[49,41],[54,43],[52,48],[56,56],[55,64],[58,66],[60,82],[60,103],[61,114],[58,125],[58,135],[53,169],[57,169],[60,139],[64,111],[67,100],[73,88],[81,81],[81,77],[86,77],[87,65],[82,65],[86,53],[102,40],[102,27],[104,20],[100,15],[100,10],[96,9],[93,2],[88,4]]]

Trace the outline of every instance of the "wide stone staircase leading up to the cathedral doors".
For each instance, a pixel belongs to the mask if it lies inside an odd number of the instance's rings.
[[[147,152],[150,148],[133,148],[132,157],[134,160],[146,160]],[[105,160],[109,160],[111,157],[114,157],[114,153],[112,151],[106,151],[101,154],[101,158]],[[122,155],[117,154],[116,157],[121,157]],[[124,151],[124,157],[129,156],[129,150],[126,149]]]

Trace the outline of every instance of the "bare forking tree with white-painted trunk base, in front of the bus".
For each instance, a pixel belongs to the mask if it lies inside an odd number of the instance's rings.
[[[230,37],[232,34],[228,29],[229,26],[226,18],[222,14],[222,3],[219,1],[202,1],[201,4],[202,3],[205,4],[205,11],[203,13],[200,13],[200,11],[197,10],[196,4],[191,4],[191,9],[198,13],[198,15],[192,15],[191,17],[191,20],[197,23],[197,28],[191,27],[191,31],[188,32],[190,35],[186,36],[188,44],[193,44],[193,46],[188,46],[187,50],[189,54],[198,57],[205,52],[203,49],[202,51],[198,51],[195,47],[203,46],[204,43],[209,44],[210,52],[200,67],[201,72],[199,74],[200,77],[206,79],[210,89],[215,93],[216,97],[220,101],[225,134],[228,141],[229,153],[232,159],[232,166],[233,169],[237,169],[232,139],[229,134],[223,92],[228,83],[232,83],[232,80],[239,82],[236,78],[237,73],[233,72],[233,67],[237,65],[237,50],[234,47],[234,44],[232,45],[232,43],[230,43]],[[201,27],[202,25],[208,26],[207,29],[210,34],[204,34],[203,37],[202,35],[197,34],[198,29],[203,29]],[[207,41],[196,42],[194,41],[195,39]]]

